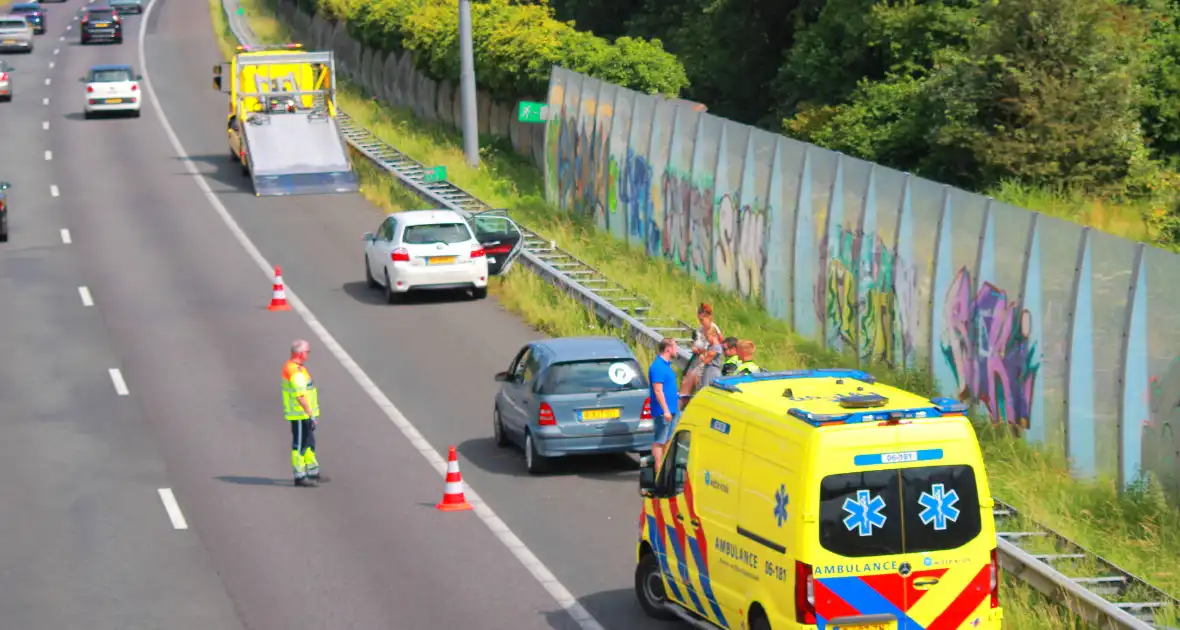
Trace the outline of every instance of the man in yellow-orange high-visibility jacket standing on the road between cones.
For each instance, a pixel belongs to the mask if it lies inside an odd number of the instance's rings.
[[[283,415],[291,426],[291,468],[296,486],[314,486],[320,480],[320,461],[315,459],[320,400],[312,374],[303,367],[310,352],[310,343],[296,340],[291,343],[290,360],[283,365]]]

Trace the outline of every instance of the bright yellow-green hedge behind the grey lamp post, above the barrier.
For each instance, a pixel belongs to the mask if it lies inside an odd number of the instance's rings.
[[[349,34],[368,48],[411,51],[432,78],[459,80],[458,0],[301,0],[300,5],[345,21]],[[544,4],[476,1],[471,13],[476,80],[498,100],[548,93],[555,65],[645,93],[675,97],[688,86],[684,66],[660,40],[611,42],[555,20]]]

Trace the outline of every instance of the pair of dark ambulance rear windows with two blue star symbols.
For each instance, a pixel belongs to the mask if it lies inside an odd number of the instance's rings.
[[[979,536],[970,466],[922,466],[825,477],[819,539],[850,558],[958,549]]]

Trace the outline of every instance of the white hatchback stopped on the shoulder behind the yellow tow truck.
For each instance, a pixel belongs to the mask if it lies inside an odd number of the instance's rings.
[[[386,301],[417,290],[470,290],[487,297],[487,252],[453,210],[409,210],[365,234],[365,280]]]

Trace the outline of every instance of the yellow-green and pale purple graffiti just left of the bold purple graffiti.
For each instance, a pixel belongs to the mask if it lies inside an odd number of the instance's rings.
[[[864,247],[872,248],[868,256],[861,256]],[[918,277],[911,261],[899,260],[878,235],[866,243],[858,230],[840,227],[831,260],[820,248],[820,269],[826,278],[815,304],[828,346],[859,347],[861,359],[891,366],[914,355]]]

